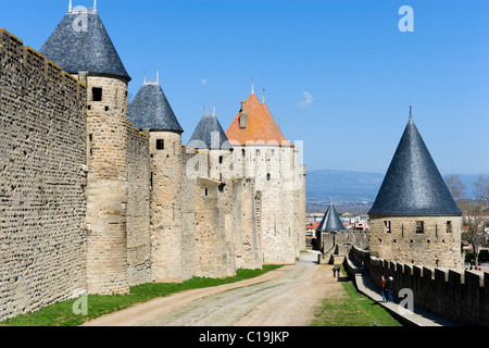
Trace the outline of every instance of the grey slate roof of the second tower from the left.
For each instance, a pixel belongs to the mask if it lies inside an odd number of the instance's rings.
[[[139,129],[184,133],[158,82],[147,82],[129,104],[128,121]]]

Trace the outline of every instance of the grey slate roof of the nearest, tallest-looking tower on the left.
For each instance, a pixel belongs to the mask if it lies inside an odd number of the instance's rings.
[[[70,74],[109,74],[130,80],[97,11],[73,9],[40,49]]]

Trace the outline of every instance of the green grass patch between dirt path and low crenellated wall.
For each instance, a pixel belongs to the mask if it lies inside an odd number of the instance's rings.
[[[311,326],[402,326],[384,307],[358,293],[350,278],[341,285],[344,294],[323,300]]]

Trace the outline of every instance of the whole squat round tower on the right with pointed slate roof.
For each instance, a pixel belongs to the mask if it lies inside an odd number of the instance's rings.
[[[462,268],[462,212],[412,116],[368,215],[372,256],[415,265]]]

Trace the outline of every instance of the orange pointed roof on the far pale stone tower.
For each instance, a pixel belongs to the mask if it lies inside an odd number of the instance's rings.
[[[246,128],[239,125],[241,111],[248,115]],[[281,134],[266,104],[260,103],[254,94],[250,95],[244,102],[244,110],[241,111],[226,132],[231,145],[246,146],[247,141],[254,141],[256,145],[293,147]]]

